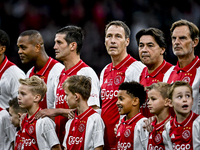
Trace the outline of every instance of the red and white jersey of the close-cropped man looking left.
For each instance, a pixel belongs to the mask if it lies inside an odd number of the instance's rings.
[[[64,69],[64,65],[57,60],[49,57],[45,66],[37,73],[35,73],[35,67],[32,67],[26,74],[28,78],[33,75],[37,75],[47,84],[47,93],[43,100],[39,103],[42,109],[55,108],[56,99],[56,87],[58,83],[56,79],[60,76],[61,71]]]

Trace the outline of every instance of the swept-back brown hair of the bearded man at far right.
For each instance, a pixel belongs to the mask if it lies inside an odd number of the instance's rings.
[[[180,27],[180,26],[188,26],[192,40],[195,40],[196,38],[199,39],[198,27],[194,23],[184,20],[184,19],[178,20],[172,24],[171,29],[170,29],[171,35],[172,35],[174,29],[176,27]]]

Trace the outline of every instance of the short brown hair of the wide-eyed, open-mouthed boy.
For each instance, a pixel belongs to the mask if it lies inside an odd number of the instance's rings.
[[[172,96],[173,96],[175,88],[181,87],[181,86],[188,87],[190,89],[190,91],[191,91],[191,94],[193,93],[192,87],[190,86],[190,84],[188,82],[185,82],[185,81],[176,81],[176,82],[174,82],[174,83],[171,84],[171,87],[169,89],[169,92],[168,92],[169,99],[172,100]]]

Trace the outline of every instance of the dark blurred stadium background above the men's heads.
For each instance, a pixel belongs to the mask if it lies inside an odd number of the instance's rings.
[[[171,50],[169,29],[179,19],[187,19],[200,27],[200,1],[0,0],[0,28],[11,39],[6,55],[25,72],[31,66],[22,65],[17,53],[16,41],[21,32],[28,29],[40,31],[48,55],[55,58],[55,32],[66,25],[77,25],[85,32],[81,58],[99,75],[103,67],[111,62],[104,46],[104,28],[112,20],[122,20],[130,27],[131,43],[128,53],[138,60],[135,34],[143,28],[161,29],[168,43],[165,59],[175,65],[177,58]],[[199,47],[196,50],[198,56]]]

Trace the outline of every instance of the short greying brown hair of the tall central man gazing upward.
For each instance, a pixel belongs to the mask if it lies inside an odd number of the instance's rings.
[[[105,28],[105,33],[107,33],[107,30],[110,26],[112,25],[115,25],[115,26],[120,26],[124,29],[124,32],[125,32],[125,38],[130,38],[130,34],[131,34],[131,31],[129,29],[129,27],[122,21],[119,21],[119,20],[116,20],[116,21],[111,21],[109,22],[107,25],[106,25],[106,28]]]

